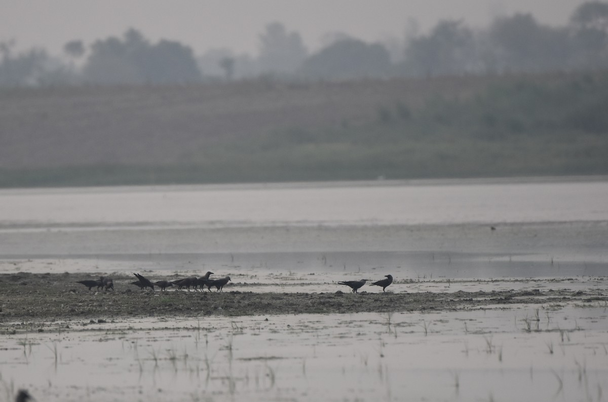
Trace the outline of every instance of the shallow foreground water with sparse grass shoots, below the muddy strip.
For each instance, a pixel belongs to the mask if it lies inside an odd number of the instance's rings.
[[[52,323],[0,340],[2,378],[47,401],[602,400],[606,307],[537,308]]]

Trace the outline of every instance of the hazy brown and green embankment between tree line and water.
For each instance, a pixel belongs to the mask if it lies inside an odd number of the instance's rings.
[[[4,187],[608,173],[607,74],[23,91]]]

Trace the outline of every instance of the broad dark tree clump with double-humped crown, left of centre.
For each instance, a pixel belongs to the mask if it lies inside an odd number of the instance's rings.
[[[123,39],[110,37],[91,45],[83,68],[87,81],[94,83],[184,83],[199,81],[200,71],[192,49],[175,41],[149,41],[130,29]]]

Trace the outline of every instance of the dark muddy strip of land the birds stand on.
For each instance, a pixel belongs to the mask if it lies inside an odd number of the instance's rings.
[[[97,274],[98,277],[98,274]],[[357,294],[336,284],[335,292],[252,291],[247,283],[231,283],[218,291],[140,290],[130,285],[134,277],[112,276],[116,290],[89,291],[78,280],[95,274],[0,275],[0,319],[4,322],[94,319],[110,321],[128,317],[254,316],[264,314],[331,314],[362,312],[458,311],[496,305],[533,305],[560,302],[606,302],[598,289],[526,288],[497,291],[399,291],[378,292],[375,286]],[[174,277],[155,277],[174,280]],[[515,286],[514,286],[515,287]],[[174,287],[175,288],[175,287]],[[174,289],[173,288],[173,289]],[[393,286],[395,288],[395,286]],[[258,288],[256,288],[258,289]],[[373,289],[373,290],[372,290]],[[388,288],[390,289],[390,288]],[[388,290],[387,289],[387,290]],[[372,293],[373,291],[373,293]]]

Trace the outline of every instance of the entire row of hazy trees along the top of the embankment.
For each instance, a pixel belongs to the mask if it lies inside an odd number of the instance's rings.
[[[61,57],[44,49],[15,54],[15,42],[2,41],[0,86],[184,84],[255,77],[348,80],[608,67],[608,2],[579,5],[559,27],[517,13],[496,18],[484,29],[444,20],[428,33],[412,31],[385,43],[328,34],[325,46],[311,53],[298,32],[275,22],[260,34],[255,57],[230,49],[197,56],[178,41],[151,43],[136,29],[88,46],[69,41]]]

